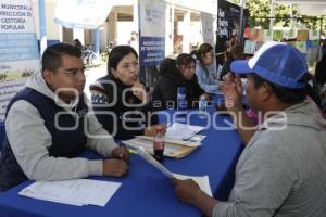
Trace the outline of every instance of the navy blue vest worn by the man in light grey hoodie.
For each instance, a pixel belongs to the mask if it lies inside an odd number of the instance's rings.
[[[58,106],[53,99],[30,88],[25,88],[11,100],[5,114],[8,114],[12,104],[18,100],[29,102],[38,110],[41,118],[45,120],[45,127],[52,136],[52,145],[48,150],[49,155],[53,157],[76,157],[84,151],[87,143],[87,137],[84,132],[84,115],[88,108],[83,99],[84,97],[82,95],[75,110],[78,115],[72,115],[64,113],[65,110]],[[55,114],[60,112],[62,114],[58,115],[55,119]],[[55,126],[55,123],[58,123],[59,127]],[[67,129],[74,126],[76,128],[71,130],[60,129],[60,127]],[[20,137],[20,132],[17,132],[17,137]],[[0,157],[0,191],[5,191],[26,179],[27,177],[20,167],[5,136]]]

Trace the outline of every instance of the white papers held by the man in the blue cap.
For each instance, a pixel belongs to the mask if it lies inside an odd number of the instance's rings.
[[[205,192],[210,196],[213,195],[208,176],[186,176],[180,174],[173,174],[168,169],[166,169],[162,164],[160,164],[154,157],[148,154],[142,148],[138,149],[138,154],[149,164],[162,171],[167,178],[176,178],[180,180],[192,179],[203,192]]]

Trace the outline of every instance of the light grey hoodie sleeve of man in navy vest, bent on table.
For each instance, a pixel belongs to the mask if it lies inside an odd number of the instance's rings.
[[[39,112],[26,101],[17,101],[5,118],[5,131],[17,163],[28,179],[62,180],[102,175],[102,161],[49,155],[52,137]]]

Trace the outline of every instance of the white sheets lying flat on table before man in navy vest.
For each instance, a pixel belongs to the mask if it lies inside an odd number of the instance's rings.
[[[120,186],[120,182],[90,179],[36,181],[20,191],[18,194],[76,206],[105,206]]]

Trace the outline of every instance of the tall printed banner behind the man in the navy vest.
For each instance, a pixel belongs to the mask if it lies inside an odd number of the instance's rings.
[[[38,72],[39,51],[30,0],[0,1],[0,122],[26,78]]]

